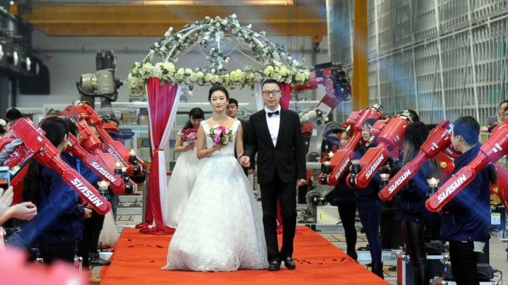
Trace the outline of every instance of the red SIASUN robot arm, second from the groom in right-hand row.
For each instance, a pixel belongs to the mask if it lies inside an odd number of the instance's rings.
[[[370,148],[359,160],[361,170],[350,173],[346,179],[349,187],[365,188],[379,168],[388,160],[390,153],[403,148],[403,138],[407,126],[413,122],[412,115],[404,111],[392,118],[377,121],[369,134],[376,137],[377,147]]]

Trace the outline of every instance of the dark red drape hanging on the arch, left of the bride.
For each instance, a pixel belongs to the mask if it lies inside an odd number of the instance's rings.
[[[159,151],[162,135],[170,120],[172,109],[176,107],[176,84],[160,84],[159,78],[151,78],[147,83],[147,99],[150,108],[150,135],[153,143],[151,149],[152,163],[148,174],[148,191],[145,207],[145,221],[137,225],[141,233],[172,234],[174,229],[164,225],[159,193]],[[164,174],[165,175],[165,174]],[[152,227],[153,222],[155,226]]]

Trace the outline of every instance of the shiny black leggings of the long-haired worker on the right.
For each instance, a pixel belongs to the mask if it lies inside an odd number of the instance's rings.
[[[402,235],[406,243],[411,264],[414,267],[415,284],[429,284],[429,266],[427,264],[427,250],[425,247],[425,225],[402,221]]]

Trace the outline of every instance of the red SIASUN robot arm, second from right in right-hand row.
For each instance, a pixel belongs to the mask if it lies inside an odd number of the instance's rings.
[[[450,149],[450,137],[453,124],[450,121],[441,121],[434,129],[429,132],[429,136],[415,158],[404,165],[397,174],[395,174],[388,184],[379,192],[379,198],[388,201],[413,177],[419,167],[425,161],[437,156],[441,151],[448,154]],[[453,152],[452,154],[453,155]]]

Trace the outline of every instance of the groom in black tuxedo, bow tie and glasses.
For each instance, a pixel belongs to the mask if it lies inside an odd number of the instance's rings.
[[[266,80],[261,87],[265,108],[249,118],[248,146],[240,162],[254,163],[258,153],[258,183],[261,188],[263,226],[268,249],[268,271],[295,269],[292,258],[294,231],[297,226],[296,185],[305,184],[305,150],[298,113],[282,109],[281,86]],[[282,248],[277,241],[277,200],[280,200]]]

